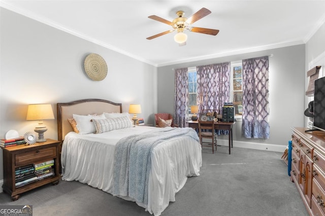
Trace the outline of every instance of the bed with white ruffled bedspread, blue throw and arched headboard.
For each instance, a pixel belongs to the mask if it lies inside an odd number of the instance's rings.
[[[57,103],[58,139],[62,141],[62,180],[88,184],[122,199],[135,201],[149,213],[160,215],[170,201],[175,201],[175,194],[182,189],[187,178],[200,175],[202,149],[197,134],[193,135],[194,130],[190,128],[176,128],[172,131],[172,127],[133,125],[121,128],[117,126],[116,129],[103,131],[96,126],[95,133],[82,134],[80,131],[78,134],[75,132],[76,128],[73,128],[72,123],[69,122],[77,116],[103,117],[104,113],[105,119],[92,119],[93,124],[121,119],[122,117],[114,117],[123,115],[122,105],[103,99]],[[169,133],[173,135],[170,136]],[[156,139],[153,135],[164,137]],[[150,138],[147,138],[149,136]],[[123,149],[128,151],[142,148],[133,147],[135,146],[133,143],[126,144],[132,140],[140,143],[151,142],[154,145],[146,147],[150,148],[146,150],[147,156],[139,152],[136,156],[132,156],[134,153],[123,152],[122,155],[129,155],[128,159],[125,159],[126,157],[118,155],[120,146],[123,145]],[[146,157],[148,157],[147,161],[143,159]],[[131,167],[134,160],[143,165]],[[128,164],[130,168],[126,168],[127,171],[121,173],[123,169],[121,164]],[[149,168],[143,168],[146,166]],[[124,178],[126,175],[127,178]],[[121,186],[121,183],[127,184],[126,189]]]

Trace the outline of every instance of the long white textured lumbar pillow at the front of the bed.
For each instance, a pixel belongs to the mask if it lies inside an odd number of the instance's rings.
[[[96,134],[101,134],[114,129],[122,129],[127,127],[132,127],[132,122],[128,116],[117,117],[117,118],[105,118],[105,119],[92,119]]]

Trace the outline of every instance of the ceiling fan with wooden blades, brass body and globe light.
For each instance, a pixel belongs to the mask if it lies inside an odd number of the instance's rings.
[[[148,40],[151,40],[153,38],[171,33],[175,30],[177,30],[177,34],[174,36],[174,40],[178,42],[179,46],[186,45],[187,35],[184,33],[184,30],[187,29],[188,31],[197,32],[197,33],[203,33],[203,34],[210,34],[210,35],[217,35],[219,30],[217,29],[210,29],[210,28],[200,28],[200,27],[192,27],[191,24],[198,21],[199,19],[202,19],[203,17],[211,14],[211,11],[209,11],[206,8],[200,9],[197,13],[194,13],[190,18],[184,17],[183,11],[177,11],[177,18],[173,20],[173,22],[170,22],[168,20],[165,20],[163,18],[160,18],[158,16],[152,15],[148,18],[166,23],[167,25],[172,26],[173,30],[168,30],[161,32],[159,34],[155,34],[151,37],[147,37]]]

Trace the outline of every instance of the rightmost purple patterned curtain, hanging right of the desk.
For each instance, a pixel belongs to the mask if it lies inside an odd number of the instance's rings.
[[[243,60],[243,121],[245,138],[270,136],[269,57]]]

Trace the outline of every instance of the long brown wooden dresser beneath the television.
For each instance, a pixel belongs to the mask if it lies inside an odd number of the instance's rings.
[[[291,180],[310,215],[325,215],[325,132],[293,127]]]

